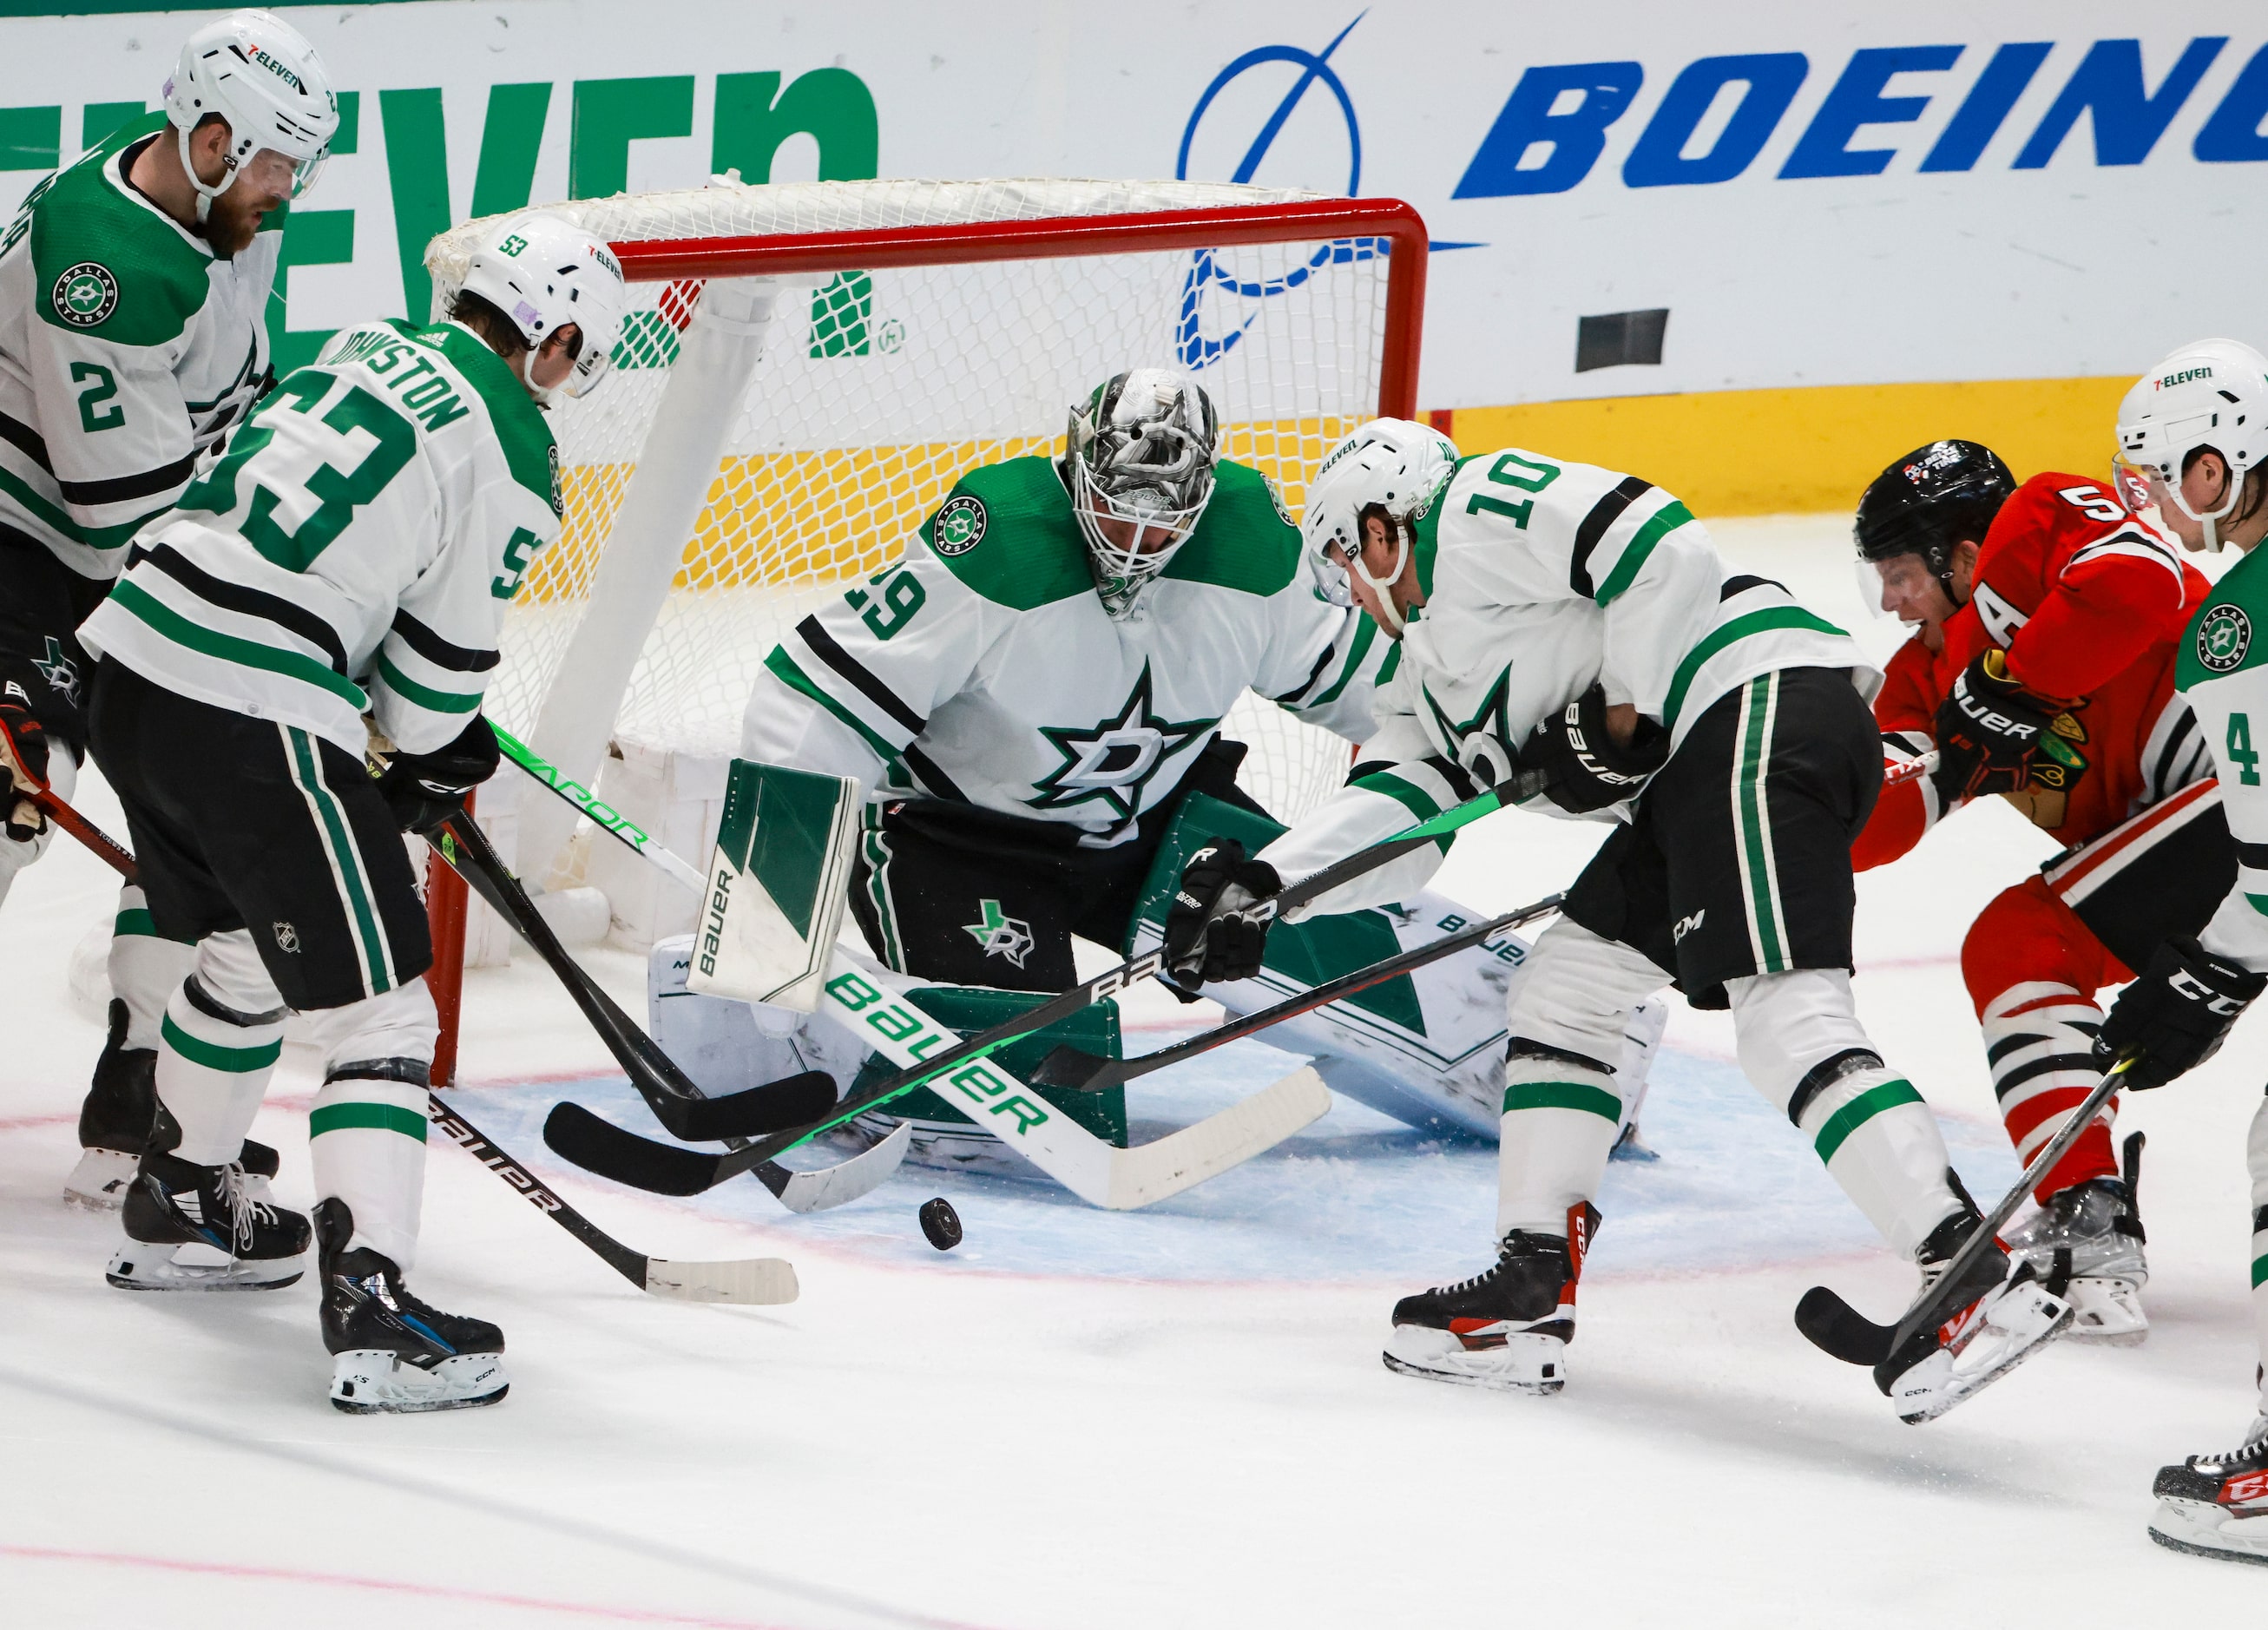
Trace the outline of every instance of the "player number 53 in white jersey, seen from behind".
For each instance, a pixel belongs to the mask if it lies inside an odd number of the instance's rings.
[[[399,834],[460,812],[497,766],[479,714],[497,630],[560,524],[538,401],[603,376],[621,304],[621,270],[583,231],[501,224],[454,322],[347,329],[284,379],[143,528],[82,630],[93,750],[150,914],[197,948],[166,1007],[109,1281],[272,1290],[313,1233],[331,1401],[349,1412],[506,1392],[503,1333],[404,1285],[435,1013]],[[290,1009],[324,1050],[313,1231],[247,1197],[231,1163]]]

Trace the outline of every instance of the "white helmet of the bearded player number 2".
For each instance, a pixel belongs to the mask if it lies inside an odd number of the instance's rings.
[[[181,143],[181,168],[197,188],[197,220],[236,186],[236,175],[261,150],[293,163],[293,197],[322,175],[338,134],[338,97],[315,48],[272,11],[231,11],[206,23],[181,45],[181,61],[166,82],[166,118]],[[229,127],[220,186],[206,186],[188,161],[197,120],[218,113]]]

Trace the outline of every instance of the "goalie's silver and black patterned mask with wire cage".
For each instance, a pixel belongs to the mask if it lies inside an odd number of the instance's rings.
[[[1070,410],[1057,472],[1111,617],[1125,617],[1198,530],[1218,456],[1213,399],[1173,367],[1111,374]]]

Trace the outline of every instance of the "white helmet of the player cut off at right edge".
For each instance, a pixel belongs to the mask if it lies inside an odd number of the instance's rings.
[[[2189,456],[2211,447],[2229,465],[2220,508],[2200,515],[2182,496]],[[2127,508],[2177,503],[2220,551],[2220,521],[2243,501],[2245,474],[2268,460],[2268,356],[2243,340],[2195,340],[2152,367],[2118,404],[2114,476]]]

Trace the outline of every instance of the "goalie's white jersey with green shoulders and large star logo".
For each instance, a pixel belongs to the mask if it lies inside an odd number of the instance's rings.
[[[1393,653],[1322,601],[1268,478],[1222,460],[1188,542],[1111,617],[1048,458],[971,469],[905,558],[805,617],[758,678],[742,755],[1061,821],[1089,848],[1175,796],[1256,691],[1352,741]]]

